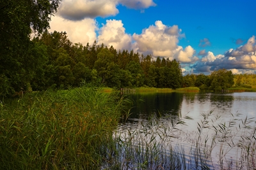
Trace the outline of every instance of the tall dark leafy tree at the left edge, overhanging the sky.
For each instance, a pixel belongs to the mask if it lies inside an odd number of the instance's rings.
[[[2,96],[24,88],[30,34],[49,28],[61,0],[0,0],[0,84]],[[3,85],[3,87],[1,87]],[[6,88],[6,85],[10,86]]]

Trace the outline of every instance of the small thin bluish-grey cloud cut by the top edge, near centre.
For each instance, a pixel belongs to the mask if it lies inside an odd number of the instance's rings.
[[[133,8],[136,10],[145,9],[150,6],[156,6],[152,0],[119,0],[119,3],[127,6],[128,8]]]

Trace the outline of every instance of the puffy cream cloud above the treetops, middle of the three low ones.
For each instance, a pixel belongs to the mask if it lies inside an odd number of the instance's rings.
[[[98,41],[106,46],[113,45],[116,50],[131,50],[131,35],[125,33],[122,20],[107,20],[106,25],[100,28]]]

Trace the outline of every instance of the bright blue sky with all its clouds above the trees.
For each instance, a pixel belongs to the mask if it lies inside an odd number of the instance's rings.
[[[49,32],[176,59],[184,74],[256,74],[256,0],[63,0]]]

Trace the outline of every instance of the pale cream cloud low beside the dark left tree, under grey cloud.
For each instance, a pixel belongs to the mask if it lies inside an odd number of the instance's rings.
[[[97,39],[95,32],[97,25],[95,20],[91,18],[85,18],[79,22],[75,22],[55,16],[52,17],[50,26],[51,29],[49,29],[49,32],[67,32],[68,39],[70,39],[72,43],[83,43],[83,45],[86,45],[86,43],[92,44],[93,41]]]

